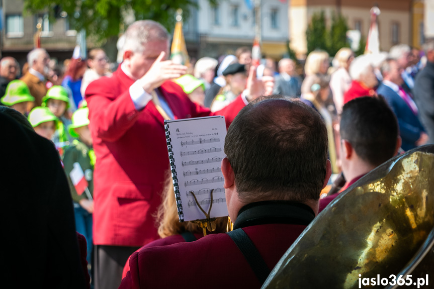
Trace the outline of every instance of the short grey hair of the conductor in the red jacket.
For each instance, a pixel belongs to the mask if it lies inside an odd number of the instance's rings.
[[[169,39],[167,30],[158,22],[140,20],[131,24],[125,32],[123,51],[142,52],[144,45],[150,41],[164,41]]]

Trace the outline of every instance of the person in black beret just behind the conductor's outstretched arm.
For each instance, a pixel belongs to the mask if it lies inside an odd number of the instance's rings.
[[[236,97],[245,89],[247,83],[247,71],[244,64],[233,63],[224,71],[226,86],[217,94],[211,104],[211,111],[215,112],[233,102]]]

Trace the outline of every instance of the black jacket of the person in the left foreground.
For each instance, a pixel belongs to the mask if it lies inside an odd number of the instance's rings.
[[[0,124],[2,279],[18,288],[86,288],[72,199],[53,143],[4,113]]]

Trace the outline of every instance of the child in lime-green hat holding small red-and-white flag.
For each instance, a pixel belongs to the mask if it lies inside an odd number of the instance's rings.
[[[74,202],[75,226],[78,233],[82,234],[88,242],[88,263],[92,256],[92,213],[94,212],[94,201],[92,199],[94,182],[93,171],[95,165],[95,153],[92,149],[92,137],[89,130],[89,109],[81,108],[72,115],[72,124],[68,126],[68,131],[74,139],[69,145],[63,156],[63,165],[68,178],[71,196]],[[88,181],[88,191],[78,195],[71,180],[70,173],[77,170],[78,165],[84,173],[84,178]],[[75,165],[74,165],[75,164]]]

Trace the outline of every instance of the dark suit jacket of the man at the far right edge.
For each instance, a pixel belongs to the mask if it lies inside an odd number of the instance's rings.
[[[413,92],[429,143],[434,143],[434,63],[426,62],[425,68],[417,74]]]

